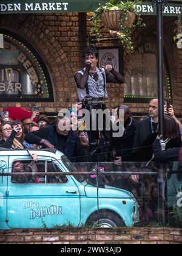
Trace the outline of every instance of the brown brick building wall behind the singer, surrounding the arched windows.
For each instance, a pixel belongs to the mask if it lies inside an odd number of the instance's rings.
[[[83,15],[83,14],[81,14]],[[41,112],[56,112],[60,108],[71,107],[76,102],[77,93],[73,74],[83,67],[81,51],[83,46],[89,45],[90,16],[86,17],[86,32],[79,13],[48,13],[40,15],[0,15],[0,27],[19,34],[32,44],[41,55],[52,77],[55,102],[48,103],[9,103],[0,104],[4,107],[28,107],[39,105]],[[133,34],[135,44],[145,35],[156,29],[155,16],[145,16],[146,28],[137,29]],[[175,19],[164,18],[164,47],[172,81],[174,107],[177,114],[182,114],[182,51],[177,49],[172,38],[174,36]],[[110,37],[108,30],[104,29],[104,37]],[[98,44],[100,47],[118,46],[117,40]],[[124,74],[130,55],[124,52]],[[118,84],[109,84],[108,93],[110,101],[108,107],[123,103],[124,87]],[[147,112],[148,104],[128,103],[132,112]]]

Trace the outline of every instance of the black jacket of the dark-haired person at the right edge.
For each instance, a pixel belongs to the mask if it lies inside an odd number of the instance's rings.
[[[169,148],[166,151],[161,151],[160,140],[155,140],[153,143],[153,154],[155,155],[155,162],[175,162],[178,161],[180,148]]]

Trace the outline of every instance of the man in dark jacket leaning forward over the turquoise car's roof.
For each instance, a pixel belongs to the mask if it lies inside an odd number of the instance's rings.
[[[55,125],[30,132],[25,136],[27,143],[42,145],[42,148],[56,148],[72,162],[87,162],[84,155],[88,153],[86,144],[89,144],[89,141],[86,143],[83,140],[86,138],[79,138],[79,135],[70,129],[70,119],[63,115],[58,116]]]

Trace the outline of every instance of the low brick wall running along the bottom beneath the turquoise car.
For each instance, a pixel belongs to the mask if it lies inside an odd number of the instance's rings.
[[[182,244],[182,229],[0,230],[0,244]]]

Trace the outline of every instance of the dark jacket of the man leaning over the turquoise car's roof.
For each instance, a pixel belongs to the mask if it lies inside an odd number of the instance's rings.
[[[87,162],[87,158],[85,157],[85,155],[87,155],[87,151],[84,150],[83,146],[81,146],[79,136],[76,134],[76,132],[71,130],[69,135],[67,135],[66,143],[63,140],[61,143],[61,137],[56,132],[55,126],[52,126],[51,128],[52,129],[50,129],[50,127],[44,127],[36,132],[28,133],[25,136],[25,141],[30,144],[40,145],[43,138],[48,140],[53,144],[53,146],[55,146],[55,148],[65,154],[70,159],[70,161]],[[62,146],[62,144],[64,144],[64,146]],[[42,148],[45,148],[44,145],[42,146]],[[70,154],[70,152],[72,153]]]

